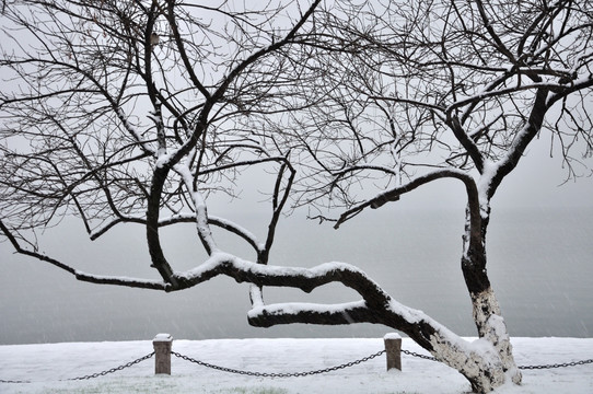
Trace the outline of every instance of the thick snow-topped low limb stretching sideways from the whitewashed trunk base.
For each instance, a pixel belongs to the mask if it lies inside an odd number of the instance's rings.
[[[277,324],[385,324],[400,329],[415,338],[426,349],[444,340],[461,340],[440,323],[421,311],[405,306],[393,300],[362,270],[345,263],[325,263],[312,268],[279,267],[256,264],[234,255],[216,252],[198,267],[175,273],[176,291],[199,285],[219,275],[234,278],[237,282],[251,282],[252,310],[249,324],[268,327]],[[341,304],[278,303],[265,305],[259,287],[292,287],[311,292],[313,289],[339,282],[357,291],[362,300]]]

